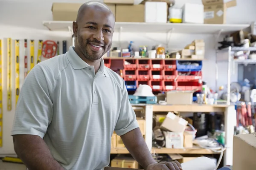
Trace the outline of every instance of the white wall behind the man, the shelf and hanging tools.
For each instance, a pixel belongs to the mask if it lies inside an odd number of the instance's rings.
[[[43,40],[67,40],[68,46],[71,45],[70,35],[64,32],[51,32],[42,25],[43,20],[52,20],[51,6],[53,2],[72,2],[84,3],[88,0],[0,0],[0,39],[11,37],[20,39],[35,40],[35,53],[37,53],[37,42]],[[135,0],[138,4],[142,0]],[[198,3],[201,0],[176,0],[175,6],[180,8],[184,3]],[[237,6],[227,9],[227,23],[251,23],[255,21],[256,1],[237,0]],[[189,28],[188,28],[189,29]],[[147,38],[147,37],[150,37]],[[121,37],[123,45],[128,45],[129,41],[134,41],[135,45],[156,45],[158,42],[166,42],[166,34],[131,34],[125,33]],[[153,39],[153,40],[152,40]],[[204,39],[206,42],[206,61],[203,63],[203,79],[209,86],[215,89],[215,51],[213,35],[193,35],[193,34],[172,34],[169,44],[170,49],[183,48],[194,39]],[[117,45],[118,33],[114,34],[113,46]],[[14,43],[13,43],[14,44]],[[20,47],[20,65],[23,65],[23,45]],[[12,121],[15,113],[15,77],[12,77],[12,111],[7,111],[7,59],[6,59],[6,39],[3,44],[3,147],[0,154],[13,154],[12,137],[10,136]],[[62,49],[60,49],[62,51]],[[29,56],[29,53],[28,53]],[[13,61],[14,62],[14,57]],[[20,82],[23,82],[23,68],[20,68]],[[226,71],[225,69],[222,71]],[[14,67],[12,72],[15,72]]]

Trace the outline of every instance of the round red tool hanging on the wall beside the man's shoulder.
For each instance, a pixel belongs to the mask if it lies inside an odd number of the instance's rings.
[[[46,40],[43,42],[42,46],[42,56],[45,58],[52,58],[57,52],[58,45],[55,41]]]

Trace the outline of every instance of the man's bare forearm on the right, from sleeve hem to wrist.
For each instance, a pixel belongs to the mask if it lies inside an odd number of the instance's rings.
[[[136,128],[120,136],[125,147],[131,153],[131,156],[146,170],[149,164],[157,163],[151,156],[148,146],[146,145],[140,128]]]

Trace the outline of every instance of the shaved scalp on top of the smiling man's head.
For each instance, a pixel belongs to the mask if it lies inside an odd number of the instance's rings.
[[[110,14],[113,15],[113,12],[111,11],[111,9],[105,4],[102,3],[100,1],[89,1],[87,3],[84,3],[83,5],[80,6],[78,12],[77,12],[77,17],[76,17],[76,22],[79,23],[83,16],[84,16],[84,12],[88,9],[88,8],[93,8],[94,10],[103,10],[103,11],[108,11]]]

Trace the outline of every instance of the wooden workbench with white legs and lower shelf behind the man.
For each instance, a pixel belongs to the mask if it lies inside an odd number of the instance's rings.
[[[233,135],[234,127],[236,126],[236,110],[233,105],[132,105],[134,111],[143,111],[145,113],[146,133],[145,142],[151,153],[180,153],[180,154],[219,154],[212,150],[200,147],[184,148],[184,149],[169,149],[169,148],[154,148],[152,147],[152,126],[154,112],[169,112],[177,111],[182,115],[189,112],[203,112],[203,113],[219,113],[224,114],[224,131],[225,131],[225,146],[224,151],[224,165],[233,164]],[[129,153],[126,148],[112,148],[111,154],[126,154]]]

